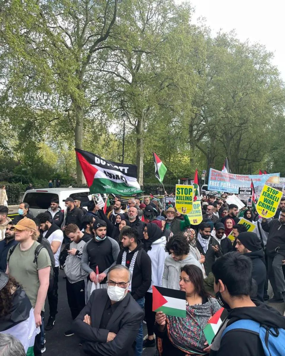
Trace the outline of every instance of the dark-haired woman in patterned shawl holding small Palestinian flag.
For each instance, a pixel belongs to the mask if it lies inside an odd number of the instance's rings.
[[[204,289],[201,269],[185,265],[180,273],[180,290],[186,292],[186,318],[157,312],[154,332],[160,356],[205,355],[203,329],[221,305]]]

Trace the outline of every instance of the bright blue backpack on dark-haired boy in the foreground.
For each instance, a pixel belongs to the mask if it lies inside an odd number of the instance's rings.
[[[261,325],[257,321],[241,319],[235,321],[224,329],[222,337],[230,330],[247,330],[250,333],[259,335],[265,356],[284,356],[285,350],[285,330],[269,328]]]

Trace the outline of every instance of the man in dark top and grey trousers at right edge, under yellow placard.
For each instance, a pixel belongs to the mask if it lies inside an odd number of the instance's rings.
[[[285,260],[285,210],[281,211],[280,219],[267,221],[263,218],[261,227],[269,232],[266,253],[268,277],[274,293],[269,302],[283,302],[285,299],[285,281],[282,270],[282,261]]]

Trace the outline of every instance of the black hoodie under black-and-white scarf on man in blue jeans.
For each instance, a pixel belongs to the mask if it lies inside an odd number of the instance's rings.
[[[151,285],[151,259],[145,250],[143,250],[143,248],[144,245],[140,241],[138,241],[138,246],[131,252],[129,252],[128,247],[125,247],[119,252],[116,263],[117,265],[122,264],[123,253],[126,251],[126,267],[129,268],[134,253],[138,250],[142,250],[140,256],[140,266],[138,266],[138,261],[136,258],[131,277],[131,295],[135,300],[143,298]]]

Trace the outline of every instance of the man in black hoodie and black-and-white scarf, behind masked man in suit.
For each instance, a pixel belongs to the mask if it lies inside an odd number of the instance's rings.
[[[134,229],[126,230],[122,237],[124,249],[119,252],[117,265],[123,265],[131,271],[129,291],[135,301],[144,309],[144,295],[151,285],[151,260],[138,240],[138,232]],[[136,355],[142,353],[144,334],[142,323],[136,336]]]

